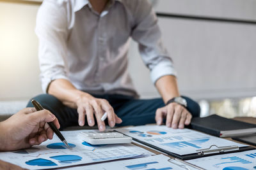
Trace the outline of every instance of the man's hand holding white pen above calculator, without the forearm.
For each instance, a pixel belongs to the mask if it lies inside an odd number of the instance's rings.
[[[88,125],[93,126],[95,124],[93,114],[96,117],[99,131],[105,131],[105,123],[101,121],[100,118],[106,111],[108,114],[108,124],[110,127],[114,127],[115,124],[122,123],[122,119],[118,118],[115,114],[112,106],[108,103],[106,99],[97,99],[90,94],[84,93],[77,100],[77,112],[78,112],[78,123],[79,125],[84,125],[85,115],[87,118]]]

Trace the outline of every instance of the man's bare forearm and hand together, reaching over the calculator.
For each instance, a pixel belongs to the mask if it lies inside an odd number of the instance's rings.
[[[105,111],[108,113],[108,124],[110,127],[122,123],[122,119],[116,116],[108,101],[97,99],[86,92],[76,89],[68,80],[57,79],[52,81],[48,92],[57,97],[66,106],[77,108],[78,124],[81,126],[84,125],[85,115],[88,125],[95,125],[93,118],[93,115],[95,115],[99,131],[105,131],[105,123],[100,120]]]

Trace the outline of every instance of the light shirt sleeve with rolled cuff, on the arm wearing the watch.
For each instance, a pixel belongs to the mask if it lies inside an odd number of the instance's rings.
[[[157,17],[148,1],[140,1],[134,13],[132,38],[139,43],[140,55],[150,69],[153,83],[166,75],[177,76],[173,62],[161,40]]]

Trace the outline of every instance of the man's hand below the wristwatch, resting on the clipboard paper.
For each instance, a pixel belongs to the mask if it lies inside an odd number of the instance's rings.
[[[179,127],[180,129],[183,129],[184,124],[190,124],[192,115],[186,108],[184,108],[184,106],[178,103],[170,103],[156,111],[157,125],[163,123],[163,118],[166,118],[167,127],[172,127],[173,129]]]

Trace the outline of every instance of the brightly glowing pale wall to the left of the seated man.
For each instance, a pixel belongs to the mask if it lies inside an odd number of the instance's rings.
[[[29,99],[41,92],[37,5],[0,1],[0,100]]]

